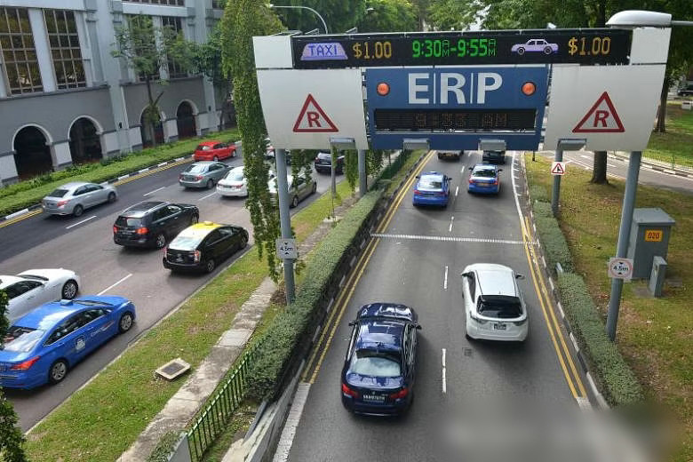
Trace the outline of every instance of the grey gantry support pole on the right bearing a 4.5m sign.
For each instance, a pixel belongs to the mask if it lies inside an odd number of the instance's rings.
[[[633,151],[631,153],[630,162],[628,163],[628,178],[625,179],[623,210],[621,211],[621,227],[618,229],[618,244],[616,250],[616,256],[618,258],[625,258],[628,253],[628,238],[631,234],[631,227],[633,225],[633,209],[635,208],[635,192],[638,189],[641,157],[641,151]],[[611,341],[616,339],[616,324],[618,322],[618,308],[621,304],[621,291],[623,291],[623,279],[612,279],[606,325],[607,335]]]

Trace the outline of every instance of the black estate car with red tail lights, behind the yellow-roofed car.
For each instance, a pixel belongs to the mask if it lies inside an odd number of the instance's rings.
[[[113,242],[162,249],[180,230],[197,223],[200,211],[189,203],[151,201],[125,209],[113,225]]]

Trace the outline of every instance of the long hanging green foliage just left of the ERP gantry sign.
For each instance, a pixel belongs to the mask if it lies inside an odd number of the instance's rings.
[[[259,258],[267,257],[269,274],[277,281],[275,239],[279,237],[279,216],[267,190],[267,128],[260,106],[252,37],[274,34],[282,25],[262,0],[228,0],[221,29],[222,63],[227,76],[233,77],[236,119],[243,140],[243,172],[249,193],[245,206],[251,213]]]

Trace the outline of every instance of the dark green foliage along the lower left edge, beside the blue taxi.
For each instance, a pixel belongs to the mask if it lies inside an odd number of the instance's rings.
[[[0,291],[0,349],[4,345],[4,337],[9,327],[7,316],[7,294]],[[4,397],[0,388],[0,456],[7,462],[25,462],[24,434],[17,426],[17,414],[12,408],[12,402]]]

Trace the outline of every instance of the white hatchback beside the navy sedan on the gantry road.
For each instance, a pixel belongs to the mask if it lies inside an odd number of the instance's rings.
[[[524,341],[527,307],[512,268],[474,263],[462,273],[466,335],[471,339]]]

